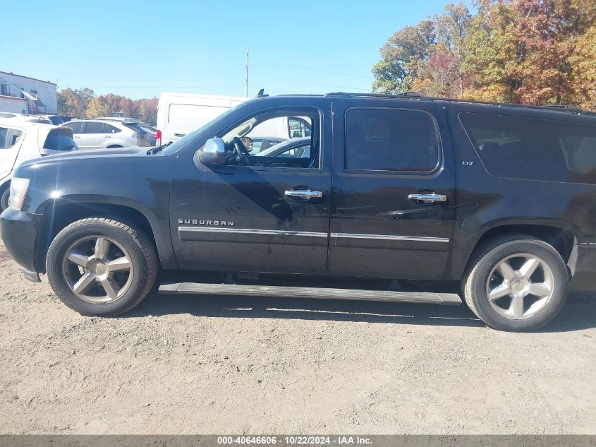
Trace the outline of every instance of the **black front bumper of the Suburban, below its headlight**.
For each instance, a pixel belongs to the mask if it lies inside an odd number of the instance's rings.
[[[37,234],[41,214],[23,213],[8,208],[0,215],[0,235],[6,250],[20,266],[30,272],[39,272],[35,268]]]

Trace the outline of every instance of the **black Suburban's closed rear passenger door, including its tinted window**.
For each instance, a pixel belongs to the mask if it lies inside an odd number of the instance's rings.
[[[432,102],[334,98],[330,275],[447,275],[454,162]]]

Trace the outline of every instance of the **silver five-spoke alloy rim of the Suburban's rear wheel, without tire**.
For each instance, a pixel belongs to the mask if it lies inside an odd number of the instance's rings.
[[[533,254],[507,256],[494,266],[487,280],[487,297],[502,316],[521,320],[547,306],[554,291],[548,264]]]

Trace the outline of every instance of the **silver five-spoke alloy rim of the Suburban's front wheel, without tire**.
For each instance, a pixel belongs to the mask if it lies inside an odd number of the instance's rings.
[[[63,279],[85,302],[114,302],[130,287],[134,276],[130,255],[123,246],[104,236],[78,239],[66,250]]]

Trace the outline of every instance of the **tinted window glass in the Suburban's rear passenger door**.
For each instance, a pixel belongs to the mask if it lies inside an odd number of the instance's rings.
[[[439,163],[439,138],[425,112],[349,109],[346,169],[430,172]]]

